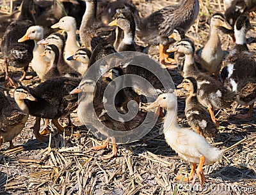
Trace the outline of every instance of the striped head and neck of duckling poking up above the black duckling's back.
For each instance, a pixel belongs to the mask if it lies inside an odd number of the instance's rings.
[[[76,51],[76,54],[71,55],[67,58],[67,61],[78,61],[83,64],[83,69],[79,71],[81,75],[83,76],[84,73],[86,73],[86,70],[88,69],[90,57],[92,55],[92,52],[88,50],[88,48],[79,48]]]

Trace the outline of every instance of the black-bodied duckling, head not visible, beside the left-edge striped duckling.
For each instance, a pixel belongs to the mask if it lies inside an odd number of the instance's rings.
[[[54,126],[57,127],[60,133],[63,133],[64,127],[60,125],[58,119],[66,117],[76,110],[78,105],[77,96],[70,95],[69,92],[77,87],[80,82],[81,78],[59,76],[45,80],[34,88],[26,87],[31,95],[36,98],[36,101],[26,99],[23,106],[28,106],[29,114],[36,117],[34,133],[38,141],[48,140],[47,136],[39,133],[41,118],[52,119]],[[70,123],[69,120],[68,125],[71,125]]]

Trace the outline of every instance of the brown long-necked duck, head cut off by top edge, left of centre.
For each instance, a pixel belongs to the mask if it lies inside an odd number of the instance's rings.
[[[86,0],[86,10],[79,29],[81,45],[90,47],[94,36],[100,36],[108,43],[115,42],[115,28],[107,27],[97,18],[97,0]]]

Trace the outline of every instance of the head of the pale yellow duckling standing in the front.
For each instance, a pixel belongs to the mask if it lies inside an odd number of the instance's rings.
[[[162,107],[167,110],[171,110],[176,108],[176,96],[173,93],[164,93],[160,94],[156,101],[148,105],[148,109],[150,108],[156,108],[156,107]]]

